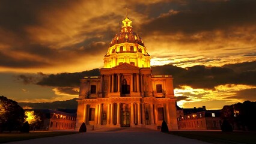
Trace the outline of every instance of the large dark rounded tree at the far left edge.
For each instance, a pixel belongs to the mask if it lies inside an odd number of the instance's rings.
[[[25,114],[16,101],[0,96],[0,132],[20,130]]]

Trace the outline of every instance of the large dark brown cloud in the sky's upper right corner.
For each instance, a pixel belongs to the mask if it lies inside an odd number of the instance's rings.
[[[162,4],[162,3],[161,3]],[[153,4],[149,11],[159,7]],[[236,26],[256,25],[256,1],[187,1],[185,5],[169,7],[178,13],[166,14],[145,23],[145,34],[159,32],[194,34],[203,31],[226,30]],[[214,37],[213,37],[214,38]]]

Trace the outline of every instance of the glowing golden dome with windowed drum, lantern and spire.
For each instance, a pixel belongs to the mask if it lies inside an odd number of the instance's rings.
[[[136,67],[150,67],[150,55],[138,34],[133,32],[132,20],[126,17],[122,20],[121,32],[116,34],[109,44],[104,58],[104,68],[112,68],[128,63]]]

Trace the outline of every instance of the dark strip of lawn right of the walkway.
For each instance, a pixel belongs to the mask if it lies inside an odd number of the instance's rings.
[[[222,132],[222,131],[171,131],[170,134],[177,136],[188,137],[190,139],[198,139],[204,142],[210,143],[255,143],[256,133],[255,132]]]

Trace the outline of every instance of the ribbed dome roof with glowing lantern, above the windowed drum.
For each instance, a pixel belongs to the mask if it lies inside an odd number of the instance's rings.
[[[121,32],[116,34],[110,43],[110,47],[120,43],[137,43],[144,46],[144,42],[138,34],[132,31],[132,20],[128,17],[124,19]]]

